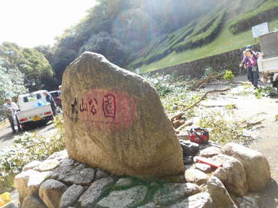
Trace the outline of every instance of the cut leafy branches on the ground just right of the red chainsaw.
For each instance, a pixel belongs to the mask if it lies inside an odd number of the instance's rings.
[[[230,117],[230,119],[228,119]],[[222,112],[208,112],[199,121],[202,128],[210,129],[210,139],[219,144],[236,142],[246,144],[250,137],[244,135],[244,129],[240,122],[235,121],[231,114]]]

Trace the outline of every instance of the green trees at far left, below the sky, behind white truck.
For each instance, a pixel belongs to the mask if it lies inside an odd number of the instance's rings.
[[[49,62],[35,49],[22,48],[10,42],[0,45],[1,67],[9,73],[18,70],[24,75],[24,87],[30,91],[47,88],[54,76]],[[17,76],[17,75],[15,75]],[[49,87],[48,87],[49,88]]]

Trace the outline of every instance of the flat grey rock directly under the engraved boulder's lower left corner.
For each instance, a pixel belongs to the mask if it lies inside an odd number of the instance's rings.
[[[95,178],[95,169],[83,168],[61,179],[67,184],[90,185]]]

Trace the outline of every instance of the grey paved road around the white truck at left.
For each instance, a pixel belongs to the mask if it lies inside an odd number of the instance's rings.
[[[30,130],[30,132],[38,130],[42,134],[51,135],[52,132],[55,132],[56,128],[52,122],[47,123],[47,125],[41,126],[39,128],[35,128]],[[13,139],[17,135],[22,135],[23,132],[17,132],[15,135],[12,134],[12,129],[10,125],[6,125],[0,129],[0,150],[4,148],[10,148],[13,146]]]

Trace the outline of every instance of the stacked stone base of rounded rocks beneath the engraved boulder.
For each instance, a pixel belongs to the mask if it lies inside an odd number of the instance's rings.
[[[186,166],[185,177],[179,177],[179,182],[167,182],[117,177],[68,158],[64,150],[44,162],[26,165],[15,177],[15,187],[22,208],[258,207],[247,195],[250,189],[263,189],[270,180],[269,166],[261,153],[227,144],[204,148],[199,155],[223,166],[215,170],[195,163]],[[257,178],[250,175],[256,168],[263,170],[256,172]]]

